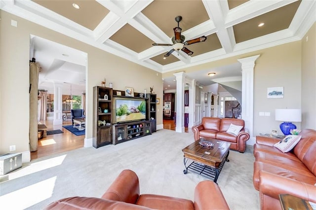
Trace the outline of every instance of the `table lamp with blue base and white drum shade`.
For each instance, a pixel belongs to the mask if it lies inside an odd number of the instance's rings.
[[[280,129],[284,135],[289,135],[291,129],[296,129],[296,125],[291,122],[302,121],[301,109],[276,109],[276,121],[283,121]]]

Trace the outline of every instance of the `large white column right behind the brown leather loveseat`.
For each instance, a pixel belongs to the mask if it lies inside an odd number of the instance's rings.
[[[245,121],[245,128],[248,129],[250,139],[247,144],[254,144],[253,138],[253,71],[255,61],[260,55],[248,58],[237,59],[241,63],[242,86],[241,86],[241,118]]]

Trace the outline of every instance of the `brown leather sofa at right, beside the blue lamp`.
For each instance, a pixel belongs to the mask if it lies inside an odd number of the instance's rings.
[[[273,145],[280,139],[257,136],[254,144],[253,184],[262,210],[281,210],[279,194],[316,203],[316,131],[305,129],[287,153]]]

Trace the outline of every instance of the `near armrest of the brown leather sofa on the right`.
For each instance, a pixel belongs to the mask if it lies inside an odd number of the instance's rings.
[[[279,194],[290,194],[306,201],[316,202],[316,186],[275,175],[269,172],[259,172],[259,192],[279,199]]]

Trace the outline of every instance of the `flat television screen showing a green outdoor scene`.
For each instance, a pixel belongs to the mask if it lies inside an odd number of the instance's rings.
[[[146,119],[145,100],[116,100],[116,122],[127,122]]]

